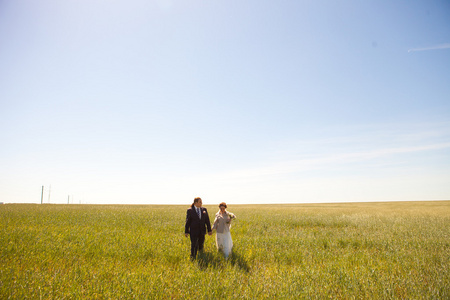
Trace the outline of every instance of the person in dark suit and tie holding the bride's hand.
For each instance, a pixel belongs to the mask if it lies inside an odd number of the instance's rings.
[[[202,199],[197,197],[194,199],[191,208],[186,212],[186,225],[184,226],[184,235],[191,236],[191,259],[197,257],[198,251],[203,251],[205,242],[206,228],[208,235],[212,234],[211,222],[209,221],[208,211],[202,207]]]

